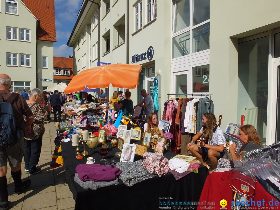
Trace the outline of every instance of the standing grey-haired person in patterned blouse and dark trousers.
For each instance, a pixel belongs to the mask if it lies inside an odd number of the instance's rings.
[[[29,172],[29,175],[37,174],[41,171],[40,168],[36,168],[36,165],[39,162],[43,134],[45,133],[44,121],[48,115],[48,112],[41,108],[42,101],[43,92],[38,88],[31,90],[30,97],[26,101],[35,117],[31,125],[31,132],[25,134],[24,137],[25,171]]]

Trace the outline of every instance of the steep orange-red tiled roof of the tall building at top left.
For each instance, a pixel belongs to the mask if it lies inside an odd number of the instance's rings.
[[[56,41],[54,0],[22,0],[38,19],[37,39]]]

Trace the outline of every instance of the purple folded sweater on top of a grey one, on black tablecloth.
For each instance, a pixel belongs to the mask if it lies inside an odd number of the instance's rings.
[[[105,166],[99,164],[80,164],[76,171],[82,181],[111,181],[115,180],[122,171],[115,165]]]

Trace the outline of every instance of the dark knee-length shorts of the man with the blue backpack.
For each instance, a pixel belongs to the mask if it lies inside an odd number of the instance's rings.
[[[18,164],[22,162],[22,157],[24,155],[24,132],[22,132],[22,137],[18,139],[14,146],[0,149],[0,167],[6,166],[7,161],[9,165],[13,167],[18,167]]]

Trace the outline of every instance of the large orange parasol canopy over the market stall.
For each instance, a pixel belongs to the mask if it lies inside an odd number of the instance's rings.
[[[87,89],[106,88],[110,84],[117,88],[135,89],[139,83],[141,69],[142,66],[130,64],[97,66],[74,76],[64,92],[69,94]]]

